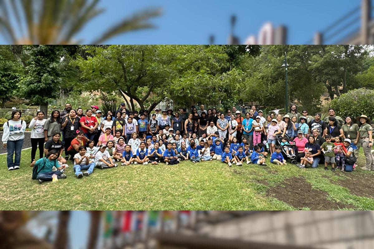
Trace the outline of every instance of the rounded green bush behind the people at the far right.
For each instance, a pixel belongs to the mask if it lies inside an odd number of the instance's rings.
[[[350,90],[331,101],[331,107],[343,118],[367,115],[374,118],[374,90],[359,88]]]

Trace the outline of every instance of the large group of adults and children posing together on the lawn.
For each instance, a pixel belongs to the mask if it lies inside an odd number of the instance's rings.
[[[325,169],[331,164],[332,171],[335,165],[344,171],[346,164],[355,167],[362,146],[366,159],[362,169],[374,170],[371,120],[366,115],[342,119],[334,109],[328,114],[322,120],[321,113],[299,113],[295,105],[285,115],[264,116],[256,106],[248,111],[233,107],[225,114],[215,108],[206,110],[204,105],[192,108],[190,113],[186,109],[160,112],[156,108],[149,114],[147,110],[131,112],[122,103],[114,115],[103,115],[98,106],[83,112],[67,103],[63,111],[53,110],[47,119],[38,111],[28,125],[31,166],[37,167],[40,183],[52,180],[52,176],[65,178],[62,173],[69,160],[78,178],[89,176],[95,167],[161,162],[173,165],[183,160],[266,165],[268,156],[278,165],[286,164],[289,158],[300,168],[324,163]],[[3,126],[8,170],[19,169],[26,126],[18,110]],[[38,146],[40,159],[36,161]]]

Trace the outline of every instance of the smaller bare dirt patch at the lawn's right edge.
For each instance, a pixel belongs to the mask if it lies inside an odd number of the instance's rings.
[[[374,198],[374,174],[346,173],[346,179],[339,180],[337,184],[346,187],[352,194]]]

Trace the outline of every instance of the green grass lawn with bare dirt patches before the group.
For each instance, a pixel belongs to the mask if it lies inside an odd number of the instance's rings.
[[[0,155],[1,210],[295,210],[374,209],[374,172],[299,169],[295,165],[232,166],[218,161],[95,169],[77,179],[31,180],[30,149],[21,169]],[[364,163],[361,151],[359,166]],[[329,166],[329,169],[331,167]]]

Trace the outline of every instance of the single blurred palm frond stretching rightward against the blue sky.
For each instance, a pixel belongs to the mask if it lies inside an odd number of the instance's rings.
[[[131,18],[125,19],[114,25],[108,31],[104,32],[99,38],[93,40],[91,44],[101,44],[109,38],[123,32],[134,31],[137,29],[154,28],[155,26],[146,22],[149,18],[161,15],[161,9],[151,9],[141,13],[136,13]]]

